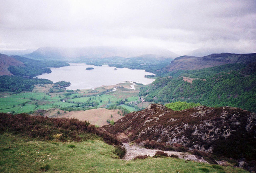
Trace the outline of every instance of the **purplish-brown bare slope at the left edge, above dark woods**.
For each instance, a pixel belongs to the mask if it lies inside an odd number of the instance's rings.
[[[0,76],[12,75],[8,70],[9,66],[24,66],[24,64],[8,55],[0,54]]]

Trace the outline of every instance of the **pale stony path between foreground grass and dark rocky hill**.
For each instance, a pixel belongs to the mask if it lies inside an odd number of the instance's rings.
[[[130,143],[123,143],[123,146],[126,148],[126,151],[127,151],[123,160],[132,160],[134,157],[138,155],[149,155],[150,157],[152,157],[156,154],[156,151],[161,151],[158,149],[146,149],[135,144],[130,145]],[[168,155],[172,155],[172,154],[177,155],[180,159],[208,163],[203,158],[199,158],[196,155],[192,155],[190,153],[182,153],[177,151],[164,151],[164,152],[167,153]]]

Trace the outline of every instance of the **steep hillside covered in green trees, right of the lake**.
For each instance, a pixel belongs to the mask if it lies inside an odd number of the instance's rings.
[[[228,64],[202,70],[174,71],[168,77],[157,78],[150,86],[141,88],[140,96],[146,96],[146,101],[162,104],[187,101],[256,112],[255,64],[244,66]]]

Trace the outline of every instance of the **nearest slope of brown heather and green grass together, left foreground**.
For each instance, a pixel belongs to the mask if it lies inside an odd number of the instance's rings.
[[[120,144],[114,135],[77,119],[0,113],[0,134],[0,172],[3,173],[248,172],[171,157],[120,160],[116,154],[118,147],[112,146]]]

